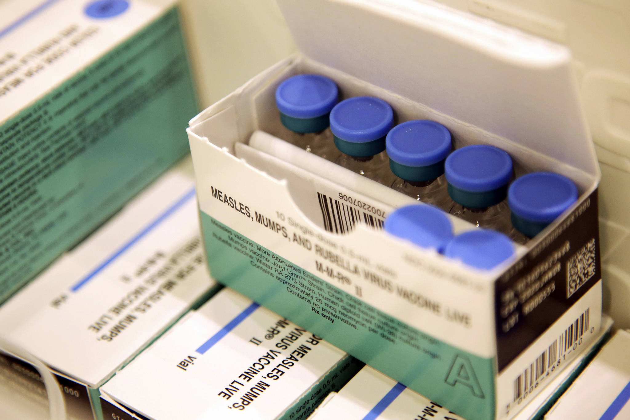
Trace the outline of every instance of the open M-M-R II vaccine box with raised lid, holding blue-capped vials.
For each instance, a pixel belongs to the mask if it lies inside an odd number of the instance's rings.
[[[213,278],[459,416],[514,416],[600,327],[600,175],[569,50],[429,2],[279,3],[301,52],[188,128]],[[235,156],[255,130],[282,136],[275,88],[309,72],[340,99],[385,99],[396,123],[444,124],[455,149],[501,147],[515,176],[568,176],[580,197],[493,271],[389,236],[372,225],[391,203]],[[344,212],[380,222],[335,232]]]

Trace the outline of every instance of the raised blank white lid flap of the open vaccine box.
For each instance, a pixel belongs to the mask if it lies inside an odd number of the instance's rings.
[[[278,3],[312,59],[599,174],[568,48],[428,1]]]

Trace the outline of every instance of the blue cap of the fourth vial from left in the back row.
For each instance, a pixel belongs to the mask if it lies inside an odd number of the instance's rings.
[[[496,190],[512,178],[512,158],[498,147],[470,145],[446,158],[444,173],[449,184],[462,191]]]

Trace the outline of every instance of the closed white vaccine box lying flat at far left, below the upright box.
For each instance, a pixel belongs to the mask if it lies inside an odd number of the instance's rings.
[[[85,419],[106,380],[218,288],[187,158],[0,307],[0,336],[50,366],[69,415]],[[0,364],[37,384],[10,356]]]

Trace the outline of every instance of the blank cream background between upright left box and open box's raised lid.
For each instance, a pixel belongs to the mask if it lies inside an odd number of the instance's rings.
[[[180,3],[202,109],[295,52],[275,0]]]

